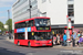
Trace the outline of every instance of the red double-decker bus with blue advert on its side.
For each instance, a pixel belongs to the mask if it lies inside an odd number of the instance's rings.
[[[38,16],[14,23],[14,44],[52,46],[50,18]]]

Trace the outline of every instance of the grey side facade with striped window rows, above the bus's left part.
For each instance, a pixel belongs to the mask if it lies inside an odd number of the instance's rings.
[[[14,26],[14,22],[30,19],[30,6],[31,2],[31,18],[38,16],[38,1],[37,0],[17,0],[17,2],[12,6],[12,26]],[[14,28],[12,28],[14,29]]]

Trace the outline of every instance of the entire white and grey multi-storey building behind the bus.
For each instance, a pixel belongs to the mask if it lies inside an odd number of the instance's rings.
[[[31,2],[30,2],[31,1]],[[63,33],[71,19],[73,30],[83,30],[83,1],[82,0],[17,0],[12,6],[13,23],[33,16],[51,18],[51,28],[54,33]],[[66,18],[69,15],[69,18]],[[14,24],[12,24],[13,28]]]

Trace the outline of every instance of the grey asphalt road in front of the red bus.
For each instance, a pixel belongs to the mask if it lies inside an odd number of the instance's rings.
[[[0,55],[83,55],[82,51],[72,51],[53,47],[17,46],[0,35]]]

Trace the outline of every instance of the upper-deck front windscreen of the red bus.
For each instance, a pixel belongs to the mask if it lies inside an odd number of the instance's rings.
[[[35,26],[50,26],[50,19],[35,19]]]

